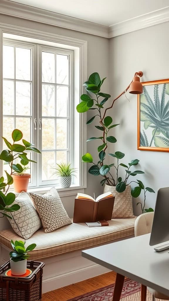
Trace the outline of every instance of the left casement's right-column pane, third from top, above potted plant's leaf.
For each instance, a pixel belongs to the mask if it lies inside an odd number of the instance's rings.
[[[21,118],[21,117],[16,117],[16,129],[19,129],[21,132],[23,132],[23,139],[26,141],[30,142],[31,137],[30,137],[30,118]]]

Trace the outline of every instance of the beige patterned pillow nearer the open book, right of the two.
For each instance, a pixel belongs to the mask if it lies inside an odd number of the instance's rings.
[[[30,196],[39,214],[45,233],[72,224],[54,187],[46,194],[30,193]]]

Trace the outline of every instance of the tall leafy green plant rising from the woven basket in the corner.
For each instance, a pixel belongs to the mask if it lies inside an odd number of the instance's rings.
[[[101,86],[106,78],[100,79],[100,76],[97,72],[92,73],[89,76],[87,82],[84,82],[85,89],[90,94],[82,94],[81,102],[77,105],[77,111],[79,113],[87,112],[88,110],[94,110],[94,116],[87,121],[87,124],[91,124],[95,118],[99,119],[99,125],[95,125],[95,128],[101,132],[101,135],[98,137],[91,137],[87,140],[93,141],[98,139],[100,145],[97,148],[98,151],[98,162],[93,162],[93,157],[91,154],[87,153],[82,156],[82,161],[87,163],[92,163],[92,166],[89,168],[88,172],[94,176],[103,176],[101,180],[101,185],[105,184],[104,191],[112,191],[113,195],[116,198],[119,196],[119,193],[123,193],[125,198],[138,197],[143,189],[143,183],[140,180],[131,181],[137,183],[137,186],[131,189],[131,182],[129,182],[130,177],[134,177],[138,174],[143,174],[141,170],[131,171],[131,167],[136,166],[139,163],[138,159],[132,160],[130,163],[124,164],[121,163],[121,159],[125,156],[121,151],[116,151],[114,154],[108,154],[116,160],[115,163],[105,164],[106,160],[106,151],[109,143],[115,143],[117,139],[110,134],[110,131],[119,125],[113,124],[111,116],[107,116],[107,111],[111,109],[115,101],[120,98],[121,95],[125,94],[129,86],[120,94],[117,98],[112,101],[112,104],[104,109],[104,104],[109,100],[111,95],[108,93],[100,92]],[[101,100],[101,101],[100,101]],[[96,112],[96,113],[95,113]],[[122,179],[119,176],[120,168],[125,168],[124,178]],[[112,169],[115,169],[115,173],[112,172]],[[115,175],[114,175],[115,174]],[[142,183],[142,184],[141,184]],[[152,188],[146,187],[146,191],[154,192]],[[144,206],[145,207],[145,206]],[[143,208],[143,207],[142,207]],[[146,209],[152,211],[152,208]],[[143,210],[142,210],[143,211]]]

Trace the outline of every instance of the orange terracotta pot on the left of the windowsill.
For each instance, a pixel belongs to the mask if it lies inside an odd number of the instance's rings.
[[[28,189],[28,184],[29,184],[29,179],[31,178],[30,174],[24,174],[24,175],[19,175],[19,174],[13,174],[12,178],[14,180],[14,191],[15,192],[21,192],[21,191],[27,191]]]

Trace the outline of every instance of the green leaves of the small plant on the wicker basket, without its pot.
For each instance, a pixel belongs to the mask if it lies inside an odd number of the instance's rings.
[[[12,261],[18,262],[22,261],[25,259],[28,259],[30,255],[27,253],[34,250],[36,247],[36,244],[30,244],[26,249],[25,249],[25,241],[22,240],[11,240],[11,246],[14,249],[14,251],[11,251],[9,253],[9,256]]]

